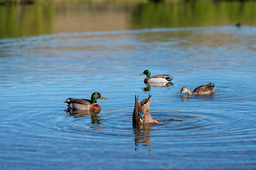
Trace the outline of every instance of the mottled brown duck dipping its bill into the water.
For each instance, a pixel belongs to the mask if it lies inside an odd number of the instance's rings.
[[[189,90],[189,88],[183,87],[181,89],[181,96],[183,95],[183,93],[186,93],[186,92],[189,93],[189,95],[192,95],[192,94],[195,94],[195,95],[211,94],[215,87],[216,87],[216,85],[211,84],[211,83],[209,83],[207,85],[200,85],[200,86],[195,88],[193,93]]]

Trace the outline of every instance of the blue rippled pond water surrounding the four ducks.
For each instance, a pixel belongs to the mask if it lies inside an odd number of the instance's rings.
[[[255,40],[255,26],[0,39],[0,168],[255,169]],[[174,79],[145,85],[145,69]],[[180,96],[210,82],[210,96]],[[93,92],[99,113],[65,111]],[[132,127],[136,94],[164,124]]]

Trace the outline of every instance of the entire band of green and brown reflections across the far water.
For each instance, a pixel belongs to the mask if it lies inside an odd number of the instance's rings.
[[[111,3],[105,5],[104,10],[99,7],[101,3],[0,6],[0,38],[107,29],[221,26],[234,25],[238,21],[242,25],[256,26],[256,2],[252,1]],[[102,17],[106,15],[109,16]],[[94,24],[95,20],[98,25]],[[110,21],[115,21],[115,27],[108,27]],[[81,29],[82,24],[90,25],[90,30],[86,26]]]

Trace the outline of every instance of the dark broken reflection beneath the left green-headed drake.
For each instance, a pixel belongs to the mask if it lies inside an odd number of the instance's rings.
[[[76,109],[66,109],[64,110],[68,114],[65,117],[72,116],[73,118],[83,118],[88,117],[91,115],[91,124],[102,124],[101,123],[101,116],[98,116],[98,113],[101,112],[101,110],[76,110]]]

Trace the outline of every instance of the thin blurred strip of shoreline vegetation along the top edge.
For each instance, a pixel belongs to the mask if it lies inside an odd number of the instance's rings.
[[[256,0],[0,0],[0,5],[62,4],[62,3],[132,3],[132,2],[220,2]]]

